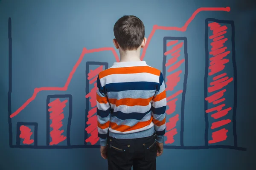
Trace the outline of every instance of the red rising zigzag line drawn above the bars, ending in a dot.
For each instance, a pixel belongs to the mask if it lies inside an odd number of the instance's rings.
[[[178,27],[160,27],[157,25],[153,26],[153,30],[151,31],[151,33],[148,36],[148,41],[145,45],[145,47],[143,48],[143,52],[142,55],[140,57],[141,60],[143,60],[143,58],[145,57],[145,53],[146,50],[148,48],[149,42],[151,41],[155,31],[157,29],[163,29],[163,30],[176,30],[176,31],[186,31],[187,27],[189,26],[189,23],[191,23],[191,21],[195,18],[195,16],[201,12],[201,11],[230,11],[230,7],[226,7],[226,8],[198,8],[193,14],[192,16],[189,18],[189,20],[186,21],[185,25],[181,28]],[[115,51],[115,49],[113,47],[105,47],[105,48],[95,48],[95,49],[91,49],[91,50],[87,50],[86,48],[83,49],[81,56],[79,57],[79,60],[76,62],[76,65],[73,67],[72,71],[70,72],[70,75],[67,79],[67,82],[65,83],[64,87],[42,87],[42,88],[35,88],[34,93],[32,95],[32,97],[30,97],[20,108],[17,109],[17,111],[15,111],[14,113],[12,113],[10,115],[10,118],[13,118],[14,116],[16,116],[18,113],[20,113],[20,111],[22,111],[24,108],[26,108],[27,105],[29,105],[30,102],[32,102],[36,95],[38,94],[38,92],[40,91],[67,91],[68,85],[70,84],[70,81],[73,77],[73,74],[76,72],[76,68],[79,66],[79,64],[81,63],[82,59],[84,58],[84,54],[88,54],[88,53],[94,53],[94,52],[99,52],[99,51],[112,51],[114,54],[114,57],[116,58],[116,62],[119,62],[119,57]]]

